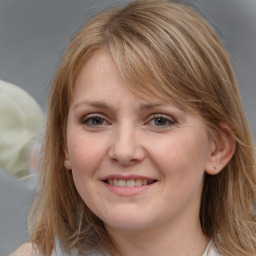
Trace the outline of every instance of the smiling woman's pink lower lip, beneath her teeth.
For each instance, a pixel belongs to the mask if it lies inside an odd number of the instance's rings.
[[[111,192],[114,192],[117,195],[122,195],[122,196],[134,196],[137,194],[140,194],[148,189],[150,189],[155,183],[149,184],[149,185],[144,185],[144,186],[139,186],[139,187],[118,187],[118,186],[113,186],[108,183],[103,182],[104,185],[109,189]]]

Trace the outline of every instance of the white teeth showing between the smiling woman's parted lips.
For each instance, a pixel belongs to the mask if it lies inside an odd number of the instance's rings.
[[[156,182],[156,180],[147,180],[147,179],[106,179],[105,183],[116,186],[116,187],[141,187],[150,185]]]

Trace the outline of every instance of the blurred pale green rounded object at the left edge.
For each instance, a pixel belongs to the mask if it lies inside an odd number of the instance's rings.
[[[30,149],[40,139],[43,119],[26,91],[0,80],[0,166],[18,178],[29,175]]]

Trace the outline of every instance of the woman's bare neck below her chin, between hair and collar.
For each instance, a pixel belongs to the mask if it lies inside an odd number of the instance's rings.
[[[200,221],[183,228],[178,226],[140,231],[107,229],[122,256],[202,256],[209,238],[203,234]]]

